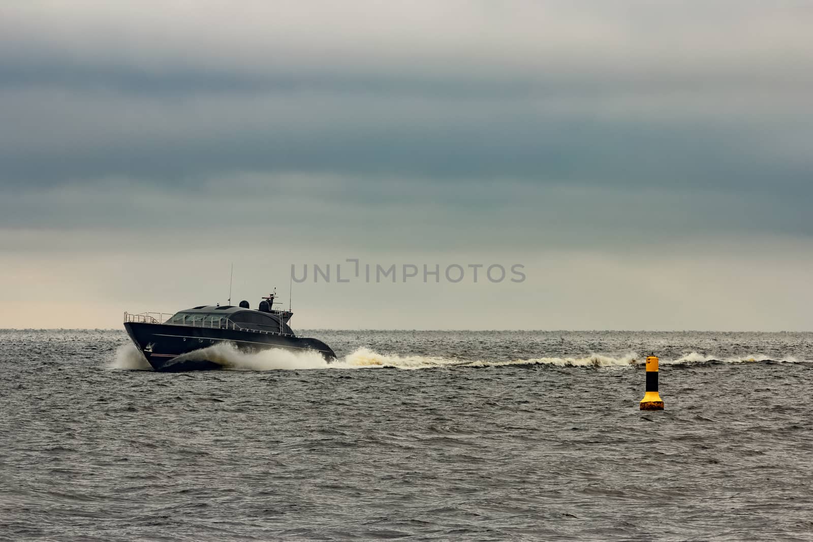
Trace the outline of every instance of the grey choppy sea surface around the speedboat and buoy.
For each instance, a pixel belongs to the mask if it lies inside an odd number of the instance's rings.
[[[300,334],[0,331],[0,540],[813,540],[813,333]]]

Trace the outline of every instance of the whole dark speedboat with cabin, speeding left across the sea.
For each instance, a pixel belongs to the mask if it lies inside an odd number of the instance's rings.
[[[239,306],[202,305],[176,314],[125,312],[124,329],[155,371],[219,369],[220,364],[206,359],[206,353],[194,353],[218,343],[232,344],[243,352],[311,350],[328,362],[336,358],[321,340],[296,336],[288,325],[293,313],[273,306],[274,294],[263,297],[257,310],[240,301]]]

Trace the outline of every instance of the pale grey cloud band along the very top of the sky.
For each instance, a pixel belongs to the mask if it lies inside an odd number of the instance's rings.
[[[759,72],[810,62],[806,2],[11,3],[4,56],[154,72]],[[544,74],[539,74],[544,76]]]

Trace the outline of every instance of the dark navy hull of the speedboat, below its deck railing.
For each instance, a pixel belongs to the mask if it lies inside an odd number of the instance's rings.
[[[130,339],[144,354],[155,371],[207,371],[220,369],[219,363],[204,357],[184,354],[206,349],[220,343],[235,345],[243,352],[266,349],[287,349],[293,352],[316,351],[328,362],[336,354],[328,345],[309,337],[285,336],[273,333],[234,330],[217,327],[176,326],[166,323],[126,322]]]

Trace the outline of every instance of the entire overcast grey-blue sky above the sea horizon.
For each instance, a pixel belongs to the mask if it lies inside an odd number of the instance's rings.
[[[810,330],[811,28],[801,0],[2,2],[0,327],[225,303],[233,262],[252,306],[311,267],[295,328]]]

